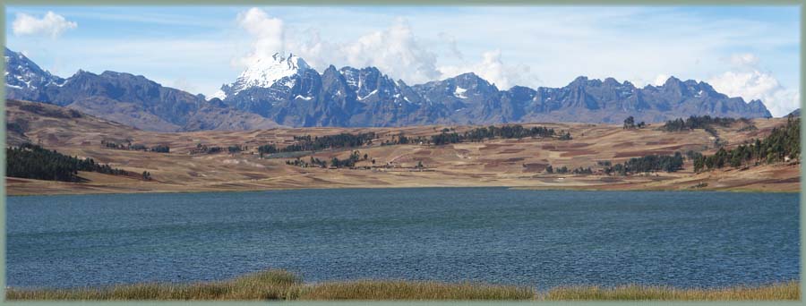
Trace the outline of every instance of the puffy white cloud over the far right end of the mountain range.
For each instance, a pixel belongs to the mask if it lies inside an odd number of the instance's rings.
[[[783,116],[800,107],[800,93],[786,89],[772,75],[758,67],[755,55],[733,55],[731,62],[738,67],[711,78],[708,83],[729,97],[742,97],[745,100],[759,99],[764,102],[774,116]]]

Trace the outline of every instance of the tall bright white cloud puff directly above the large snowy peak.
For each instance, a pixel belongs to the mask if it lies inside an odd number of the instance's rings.
[[[284,53],[284,27],[279,18],[272,18],[262,9],[253,7],[237,16],[238,25],[253,36],[252,53],[240,58],[238,64],[250,64],[275,53]]]

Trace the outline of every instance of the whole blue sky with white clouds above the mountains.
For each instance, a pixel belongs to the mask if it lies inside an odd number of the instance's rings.
[[[499,89],[674,76],[776,116],[800,100],[797,6],[7,6],[5,31],[6,47],[61,77],[130,72],[207,96],[280,52],[409,85],[464,72]]]

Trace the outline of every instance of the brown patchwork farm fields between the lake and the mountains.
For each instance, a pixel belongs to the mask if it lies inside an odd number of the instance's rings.
[[[62,183],[18,178],[6,178],[9,195],[109,193],[109,192],[180,192],[180,191],[253,191],[299,188],[390,188],[390,187],[467,187],[507,186],[529,189],[571,190],[716,190],[716,191],[799,191],[800,164],[752,166],[748,169],[725,169],[694,174],[690,162],[685,169],[673,173],[608,176],[596,174],[598,160],[621,163],[630,157],[647,154],[673,154],[675,151],[702,150],[709,154],[716,149],[714,138],[707,132],[661,132],[661,124],[651,124],[641,130],[623,130],[620,125],[588,123],[525,123],[526,127],[541,125],[555,130],[570,131],[573,140],[522,139],[485,140],[445,146],[407,144],[380,146],[381,141],[357,148],[369,159],[357,166],[372,169],[324,169],[287,166],[291,158],[265,158],[256,153],[263,144],[279,147],[293,142],[294,136],[332,135],[339,132],[376,132],[380,140],[391,139],[400,132],[407,136],[438,134],[443,128],[457,132],[472,126],[412,126],[400,128],[294,128],[245,132],[177,132],[161,133],[135,130],[118,123],[89,115],[61,118],[36,115],[20,109],[21,103],[7,101],[8,122],[24,122],[24,135],[9,132],[7,142],[39,143],[47,149],[64,154],[92,157],[101,163],[123,168],[133,173],[149,171],[152,181],[137,177],[81,173],[87,183]],[[59,111],[57,106],[43,105]],[[727,147],[745,140],[764,137],[770,129],[785,123],[785,119],[758,119],[757,131],[739,132],[740,126],[717,128]],[[146,146],[166,144],[171,153],[155,153],[106,149],[101,140]],[[249,150],[238,154],[190,154],[197,144],[220,146],[246,145]],[[323,160],[346,158],[350,149],[316,152]],[[302,157],[308,160],[309,155]],[[423,171],[415,168],[418,162]],[[592,167],[595,174],[545,174],[552,165],[576,168]],[[701,187],[701,183],[707,186]]]

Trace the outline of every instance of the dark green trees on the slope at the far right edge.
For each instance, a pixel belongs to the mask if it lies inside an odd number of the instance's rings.
[[[801,118],[790,116],[783,127],[776,127],[764,140],[754,140],[734,149],[721,148],[716,154],[693,154],[694,171],[713,170],[725,166],[775,163],[801,157]]]

